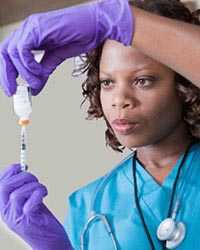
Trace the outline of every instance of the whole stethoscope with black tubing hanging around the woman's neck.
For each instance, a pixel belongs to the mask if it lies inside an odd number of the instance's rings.
[[[163,249],[174,249],[174,248],[176,248],[177,246],[179,246],[181,244],[181,242],[184,240],[185,235],[186,235],[186,226],[185,226],[185,224],[183,222],[177,222],[176,221],[176,216],[177,216],[177,213],[178,213],[178,210],[179,210],[179,207],[180,207],[180,199],[177,199],[177,201],[175,202],[173,210],[172,210],[172,207],[173,207],[173,203],[174,203],[174,197],[175,197],[175,192],[176,192],[177,183],[178,183],[178,179],[179,179],[179,176],[180,176],[181,168],[182,168],[182,166],[184,165],[184,163],[186,161],[186,158],[188,156],[190,147],[191,147],[191,145],[193,143],[194,142],[192,142],[188,146],[188,148],[187,148],[187,150],[186,150],[186,152],[185,152],[185,154],[184,154],[184,156],[183,156],[183,158],[182,158],[182,160],[180,162],[180,165],[178,167],[178,172],[177,172],[177,175],[176,175],[173,187],[172,187],[172,195],[171,195],[171,199],[170,199],[168,217],[160,223],[160,225],[158,226],[158,229],[157,229],[157,237],[163,243],[163,245],[162,245]],[[144,215],[142,213],[142,209],[141,209],[141,206],[139,204],[138,187],[137,187],[138,185],[137,185],[137,178],[136,178],[136,157],[137,157],[137,152],[135,150],[133,158],[132,158],[133,159],[132,168],[133,168],[135,204],[136,204],[136,208],[138,210],[140,219],[142,221],[145,233],[146,233],[146,235],[148,237],[148,240],[149,240],[149,243],[151,245],[151,249],[155,250],[156,248],[154,246],[153,240],[152,240],[151,235],[149,233],[148,227],[147,227],[147,225],[145,223]],[[87,249],[86,236],[87,236],[87,233],[89,231],[89,228],[90,228],[91,224],[93,222],[95,222],[95,221],[100,221],[100,222],[103,223],[104,228],[105,228],[108,236],[111,238],[111,241],[112,241],[112,244],[113,244],[113,249],[114,250],[119,250],[119,246],[118,246],[116,237],[115,237],[114,233],[112,232],[111,225],[109,224],[109,221],[108,221],[106,215],[101,214],[100,212],[98,213],[97,209],[96,209],[96,206],[95,206],[96,201],[97,201],[99,195],[101,194],[101,190],[104,189],[105,185],[108,183],[110,178],[115,173],[117,173],[117,170],[119,168],[121,168],[121,164],[118,167],[116,167],[115,169],[113,169],[111,172],[109,172],[102,179],[102,181],[100,182],[100,184],[97,186],[97,188],[95,190],[95,193],[94,193],[93,198],[91,200],[90,216],[89,216],[89,219],[88,219],[88,221],[86,222],[86,224],[85,224],[85,226],[83,228],[83,231],[82,231],[81,237],[80,237],[80,242],[81,242],[81,248],[80,249],[81,250]]]

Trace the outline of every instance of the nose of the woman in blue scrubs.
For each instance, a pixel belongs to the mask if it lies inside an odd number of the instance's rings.
[[[129,92],[129,93],[128,93]],[[118,90],[113,93],[112,107],[118,109],[129,108],[132,109],[136,106],[136,98],[130,94],[130,90]]]

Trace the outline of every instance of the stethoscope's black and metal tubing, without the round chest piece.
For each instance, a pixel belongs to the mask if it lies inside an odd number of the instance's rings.
[[[171,216],[173,217],[173,219],[175,220],[176,219],[176,214],[178,212],[178,209],[179,209],[179,206],[180,206],[180,201],[179,199],[177,199],[177,202],[175,203],[175,206],[174,206],[174,209],[172,209],[173,207],[173,203],[174,203],[174,197],[175,197],[175,193],[176,193],[176,188],[177,188],[177,183],[178,183],[178,179],[179,179],[179,176],[180,176],[180,172],[181,172],[181,168],[182,166],[184,165],[184,162],[186,161],[186,158],[187,158],[187,155],[188,155],[188,152],[190,150],[190,147],[193,143],[191,143],[183,158],[182,158],[182,161],[179,165],[179,168],[178,168],[178,172],[177,172],[177,175],[176,175],[176,178],[175,178],[175,181],[174,181],[174,184],[173,184],[173,187],[172,187],[172,195],[171,195],[171,199],[170,199],[170,205],[169,205],[169,210],[168,210],[168,216]],[[137,207],[137,210],[138,210],[138,213],[139,213],[139,216],[141,218],[141,221],[142,221],[142,224],[143,224],[143,227],[144,227],[144,230],[145,230],[145,233],[148,237],[148,240],[149,240],[149,243],[151,245],[151,249],[152,250],[155,250],[155,246],[154,246],[154,243],[153,243],[153,240],[151,238],[151,235],[149,233],[149,230],[148,230],[148,227],[145,223],[145,219],[144,219],[144,216],[143,216],[143,213],[142,213],[142,209],[140,207],[140,204],[139,204],[139,197],[138,197],[138,187],[137,187],[137,178],[136,178],[136,156],[137,156],[137,152],[136,150],[133,152],[133,154],[131,155],[132,156],[132,172],[133,172],[133,182],[134,182],[134,198],[135,198],[135,204],[136,204],[136,207]],[[130,155],[127,157],[131,157]],[[127,159],[125,158],[124,161]],[[96,200],[98,199],[98,196],[102,193],[101,190],[104,190],[104,187],[106,186],[107,182],[109,181],[109,179],[117,173],[117,170],[121,168],[121,164],[119,164],[119,166],[117,166],[116,168],[114,168],[113,170],[111,170],[104,178],[103,180],[99,183],[99,185],[97,186],[95,192],[94,192],[94,195],[91,199],[91,203],[90,203],[90,216],[89,216],[89,219],[87,221],[87,223],[85,224],[84,228],[83,228],[83,231],[82,231],[82,234],[81,234],[81,250],[85,250],[86,249],[86,243],[85,243],[85,239],[86,239],[86,234],[89,230],[89,227],[91,225],[92,222],[94,222],[95,220],[100,220],[104,227],[105,227],[105,230],[106,232],[108,233],[108,235],[110,236],[111,240],[112,240],[112,243],[113,243],[113,249],[114,250],[119,250],[119,246],[118,246],[118,243],[117,243],[117,240],[116,240],[116,237],[114,235],[114,233],[112,232],[112,228],[111,228],[111,225],[109,224],[108,222],[108,219],[106,217],[106,215],[104,214],[101,214],[100,212],[98,212],[98,210],[96,209]],[[166,248],[166,244],[165,244],[165,241],[161,242],[162,244],[162,248],[163,250],[167,249]]]

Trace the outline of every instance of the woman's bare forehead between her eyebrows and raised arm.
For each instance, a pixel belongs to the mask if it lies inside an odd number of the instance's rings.
[[[125,47],[119,42],[107,40],[104,44],[100,72],[115,70],[137,70],[142,68],[158,68],[159,62],[153,60],[134,47]]]

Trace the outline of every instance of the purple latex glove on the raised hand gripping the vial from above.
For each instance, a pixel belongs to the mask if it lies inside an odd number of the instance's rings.
[[[106,39],[131,45],[133,32],[128,0],[98,0],[33,14],[0,44],[0,84],[11,96],[20,74],[37,95],[65,59],[89,52]],[[45,50],[40,63],[31,50]]]

